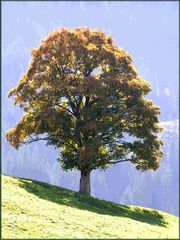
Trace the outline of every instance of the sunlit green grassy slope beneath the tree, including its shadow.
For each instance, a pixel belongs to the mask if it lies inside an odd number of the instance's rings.
[[[2,176],[2,238],[178,238],[178,218]]]

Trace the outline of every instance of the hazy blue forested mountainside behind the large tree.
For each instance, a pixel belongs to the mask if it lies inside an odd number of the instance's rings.
[[[58,151],[34,143],[18,151],[5,131],[22,112],[7,99],[30,61],[30,49],[59,27],[101,28],[132,54],[139,74],[152,84],[149,95],[161,107],[165,156],[156,172],[141,173],[130,163],[94,171],[92,194],[178,215],[179,98],[178,2],[3,2],[2,3],[2,171],[78,190],[79,173],[63,172]]]

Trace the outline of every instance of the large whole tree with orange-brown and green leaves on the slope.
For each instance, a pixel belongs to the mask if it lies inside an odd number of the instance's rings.
[[[156,170],[162,158],[159,107],[143,98],[151,86],[131,56],[101,30],[62,28],[37,49],[10,90],[25,111],[6,138],[22,144],[46,140],[60,149],[61,167],[81,171],[80,192],[90,194],[90,173],[130,161]]]

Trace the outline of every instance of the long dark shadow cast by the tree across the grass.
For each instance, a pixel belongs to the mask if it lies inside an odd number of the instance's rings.
[[[127,217],[151,225],[157,225],[161,227],[167,226],[167,222],[165,221],[164,217],[156,210],[140,209],[138,207],[131,208],[129,206],[117,205],[112,202],[99,200],[94,197],[88,197],[71,190],[38,181],[20,179],[19,185],[26,191],[35,194],[39,198],[57,204],[66,205],[81,210],[87,210],[97,214]]]

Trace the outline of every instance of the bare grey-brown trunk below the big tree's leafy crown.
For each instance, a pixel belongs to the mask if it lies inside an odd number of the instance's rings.
[[[90,195],[91,186],[90,186],[90,171],[81,171],[81,179],[80,179],[80,188],[79,192],[84,193],[86,195]]]

